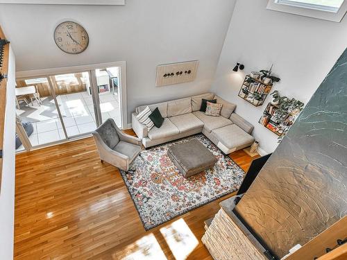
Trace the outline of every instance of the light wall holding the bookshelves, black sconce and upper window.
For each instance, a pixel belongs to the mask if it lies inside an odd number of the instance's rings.
[[[274,62],[274,75],[281,80],[273,90],[307,103],[346,48],[347,18],[335,23],[291,15],[266,10],[267,2],[237,1],[212,91],[237,104],[236,112],[255,125],[260,147],[271,153],[277,136],[258,123],[271,97],[261,107],[239,98],[244,73],[268,69]],[[236,62],[244,63],[244,72],[232,72]]]

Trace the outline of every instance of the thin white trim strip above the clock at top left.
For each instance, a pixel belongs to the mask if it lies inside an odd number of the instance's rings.
[[[0,0],[0,3],[124,6],[125,0]]]

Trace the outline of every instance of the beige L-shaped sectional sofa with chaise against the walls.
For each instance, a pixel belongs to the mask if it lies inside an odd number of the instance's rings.
[[[223,104],[221,115],[207,116],[199,111],[203,98],[217,99],[217,103]],[[137,137],[142,139],[142,144],[146,148],[201,132],[225,154],[253,144],[254,138],[251,136],[253,125],[234,113],[235,104],[212,93],[148,105],[151,111],[158,107],[164,117],[162,126],[160,128],[154,126],[150,131],[146,125],[136,119],[136,115],[146,106],[137,107],[132,114],[133,130]]]

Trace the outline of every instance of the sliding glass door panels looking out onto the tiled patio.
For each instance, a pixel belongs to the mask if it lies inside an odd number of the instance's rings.
[[[121,128],[119,74],[107,67],[17,79],[17,151],[90,135],[108,118]]]

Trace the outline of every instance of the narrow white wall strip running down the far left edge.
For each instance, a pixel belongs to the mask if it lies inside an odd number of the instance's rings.
[[[13,257],[15,211],[15,56],[10,48],[0,191],[0,259]]]

